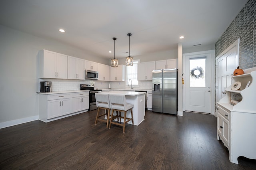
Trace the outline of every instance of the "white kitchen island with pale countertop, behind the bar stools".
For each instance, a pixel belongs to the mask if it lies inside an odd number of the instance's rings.
[[[134,125],[138,126],[144,121],[145,116],[145,92],[134,91],[106,91],[102,93],[125,95],[126,102],[134,105],[132,108]],[[126,117],[131,117],[131,111],[127,111]],[[123,120],[121,120],[123,122]],[[132,124],[132,121],[128,122]]]

